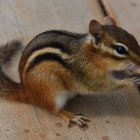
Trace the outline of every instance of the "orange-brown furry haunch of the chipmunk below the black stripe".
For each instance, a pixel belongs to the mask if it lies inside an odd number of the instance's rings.
[[[59,92],[72,88],[69,73],[56,62],[42,62],[32,72],[26,74],[23,84],[31,102],[54,112],[57,108],[54,98]]]

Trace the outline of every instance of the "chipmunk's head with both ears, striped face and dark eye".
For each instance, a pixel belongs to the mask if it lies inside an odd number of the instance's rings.
[[[105,17],[104,24],[92,20],[89,32],[94,38],[93,52],[106,71],[121,71],[127,62],[140,66],[140,46],[135,37]],[[99,62],[99,63],[100,63]]]

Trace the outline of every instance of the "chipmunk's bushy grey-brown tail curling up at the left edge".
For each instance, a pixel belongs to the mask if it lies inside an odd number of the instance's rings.
[[[22,90],[20,83],[16,83],[8,77],[2,65],[8,63],[12,57],[22,49],[21,42],[12,41],[6,45],[0,46],[0,96],[13,100],[21,100]]]

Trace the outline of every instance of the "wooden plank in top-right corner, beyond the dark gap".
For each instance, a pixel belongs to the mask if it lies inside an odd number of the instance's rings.
[[[103,1],[103,0],[102,0]],[[120,24],[134,34],[140,42],[140,1],[139,0],[106,0]],[[108,9],[108,8],[107,8]]]

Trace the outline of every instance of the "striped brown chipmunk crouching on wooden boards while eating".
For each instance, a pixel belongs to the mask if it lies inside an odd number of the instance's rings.
[[[137,86],[140,78],[134,73],[139,65],[137,40],[105,17],[103,25],[92,20],[89,33],[50,30],[37,35],[21,55],[20,83],[0,67],[0,91],[6,99],[40,105],[68,121],[68,126],[87,129],[88,118],[63,109],[67,100],[77,93]]]

